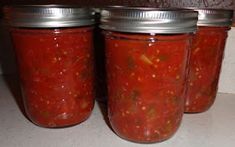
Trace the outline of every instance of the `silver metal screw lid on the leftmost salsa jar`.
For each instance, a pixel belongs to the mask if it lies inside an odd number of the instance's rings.
[[[4,8],[5,18],[14,27],[78,27],[95,23],[89,8],[69,5],[21,5]]]

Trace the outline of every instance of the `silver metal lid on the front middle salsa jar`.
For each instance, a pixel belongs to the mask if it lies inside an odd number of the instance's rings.
[[[198,13],[184,9],[107,7],[101,11],[105,30],[130,33],[178,34],[195,32]]]

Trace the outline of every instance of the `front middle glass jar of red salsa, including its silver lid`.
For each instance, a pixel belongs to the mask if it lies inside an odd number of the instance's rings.
[[[101,12],[107,58],[108,116],[122,138],[170,138],[184,112],[197,12],[110,7]]]

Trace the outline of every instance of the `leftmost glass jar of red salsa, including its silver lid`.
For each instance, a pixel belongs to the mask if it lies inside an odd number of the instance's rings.
[[[93,12],[34,5],[5,8],[29,119],[42,127],[86,120],[94,105]]]

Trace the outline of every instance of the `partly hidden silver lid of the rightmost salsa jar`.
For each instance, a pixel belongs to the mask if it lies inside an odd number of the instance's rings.
[[[198,26],[231,26],[233,10],[194,9],[198,11]]]

